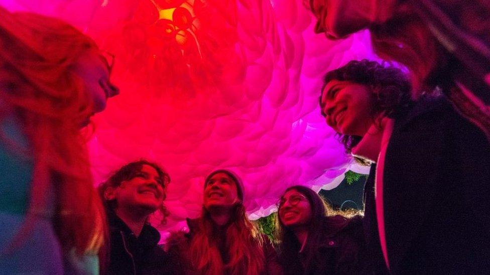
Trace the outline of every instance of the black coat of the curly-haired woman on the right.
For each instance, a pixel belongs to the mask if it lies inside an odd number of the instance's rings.
[[[423,98],[395,118],[383,174],[392,273],[490,273],[489,157],[486,137],[444,97]],[[366,187],[365,228],[377,240]]]

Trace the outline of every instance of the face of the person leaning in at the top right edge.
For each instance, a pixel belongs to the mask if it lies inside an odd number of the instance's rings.
[[[370,24],[373,1],[310,0],[310,9],[318,19],[315,33],[340,39],[365,29]]]

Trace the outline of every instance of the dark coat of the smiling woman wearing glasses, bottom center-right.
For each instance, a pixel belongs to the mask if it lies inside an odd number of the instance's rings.
[[[306,266],[306,254],[280,252],[286,274],[367,274],[361,217],[325,217],[313,262]],[[289,254],[290,257],[287,257]],[[293,256],[291,258],[291,255]],[[308,268],[308,270],[305,270]]]

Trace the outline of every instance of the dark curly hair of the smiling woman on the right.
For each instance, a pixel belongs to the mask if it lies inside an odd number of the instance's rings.
[[[383,114],[394,118],[412,103],[410,84],[407,76],[398,68],[385,66],[376,61],[363,59],[352,60],[345,66],[328,72],[323,78],[323,87],[320,92],[320,108],[322,116],[323,106],[321,102],[325,86],[332,80],[351,81],[368,86],[375,95],[372,106],[373,115]],[[359,143],[362,137],[342,135],[337,133],[339,141],[344,145],[345,151],[350,153],[352,148]],[[359,161],[359,160],[358,160]],[[360,160],[361,164],[367,164]]]

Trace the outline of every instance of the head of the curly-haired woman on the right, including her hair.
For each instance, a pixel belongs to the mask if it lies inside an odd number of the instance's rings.
[[[412,103],[407,76],[375,61],[350,61],[328,72],[323,81],[321,114],[338,133],[347,153],[373,123],[403,112]]]

